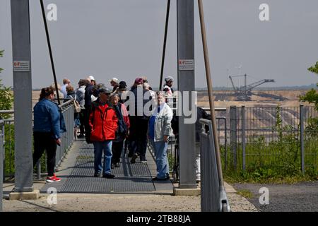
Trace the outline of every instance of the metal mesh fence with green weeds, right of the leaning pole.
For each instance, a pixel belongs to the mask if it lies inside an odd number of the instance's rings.
[[[282,172],[304,165],[306,170],[317,169],[317,114],[314,107],[304,106],[232,107],[231,164],[236,169],[276,167]]]

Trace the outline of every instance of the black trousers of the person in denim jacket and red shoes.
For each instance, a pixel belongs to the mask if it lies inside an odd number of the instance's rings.
[[[34,153],[33,167],[40,160],[45,150],[47,150],[47,172],[49,177],[54,175],[55,156],[57,153],[57,143],[52,137],[52,133],[34,132]]]

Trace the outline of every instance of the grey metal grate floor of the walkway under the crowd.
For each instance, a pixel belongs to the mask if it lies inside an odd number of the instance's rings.
[[[94,174],[93,145],[83,144],[77,157],[76,165],[61,187],[60,192],[126,192],[126,191],[154,191],[148,165],[136,161],[130,164],[122,158],[122,164],[112,169],[115,179],[93,177]]]

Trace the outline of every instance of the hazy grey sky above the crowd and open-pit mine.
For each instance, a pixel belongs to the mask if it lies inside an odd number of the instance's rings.
[[[170,8],[165,75],[177,78],[176,0]],[[57,4],[57,21],[49,21],[58,82],[77,85],[95,76],[107,83],[113,76],[132,83],[148,76],[158,87],[164,0],[46,0]],[[195,3],[196,87],[206,87],[197,1]],[[318,61],[317,0],[205,0],[204,13],[214,86],[229,86],[231,75],[247,73],[248,83],[273,78],[266,86],[309,85],[317,76],[307,68]],[[269,4],[270,21],[259,20],[259,5]],[[48,12],[48,11],[47,11]],[[10,0],[0,1],[0,49],[5,55],[0,78],[13,85]],[[40,11],[30,0],[33,88],[53,82]],[[237,67],[242,65],[242,69]],[[243,80],[235,80],[242,85]],[[175,83],[177,85],[177,83]]]

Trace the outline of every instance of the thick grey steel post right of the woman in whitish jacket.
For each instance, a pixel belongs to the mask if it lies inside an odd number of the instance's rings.
[[[189,91],[188,106],[191,106],[194,91],[194,0],[177,0],[177,52],[178,90]],[[184,63],[184,64],[183,64]],[[184,98],[179,98],[179,102]],[[179,105],[180,106],[180,105]],[[194,109],[196,111],[196,109]],[[196,188],[195,174],[195,125],[185,124],[179,117],[179,166],[180,189]]]

